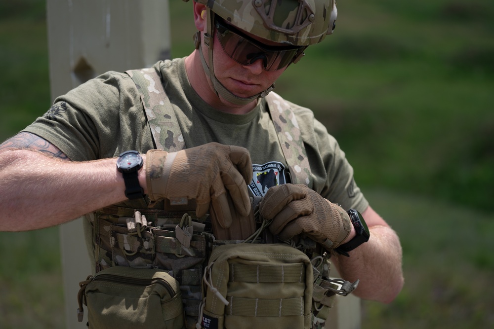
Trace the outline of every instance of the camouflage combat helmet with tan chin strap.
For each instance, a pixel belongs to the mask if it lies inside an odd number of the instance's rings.
[[[189,0],[183,0],[185,2]],[[194,45],[199,54],[204,71],[209,76],[216,95],[237,105],[246,105],[253,100],[265,97],[273,88],[250,97],[240,97],[229,91],[214,74],[213,61],[213,22],[215,15],[256,37],[285,43],[300,48],[291,63],[296,63],[304,55],[303,50],[311,44],[321,42],[334,30],[337,10],[336,0],[194,0],[206,6],[208,19],[204,44],[208,48],[208,61],[201,50],[201,31],[194,35]],[[290,64],[291,64],[290,63]],[[289,65],[289,64],[288,64]]]

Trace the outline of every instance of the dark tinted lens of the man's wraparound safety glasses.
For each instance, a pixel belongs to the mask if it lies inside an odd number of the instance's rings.
[[[222,28],[223,32],[218,29],[217,36],[223,50],[233,60],[242,65],[249,65],[262,59],[266,71],[276,71],[286,67],[298,51],[296,48],[282,51],[269,51],[260,48],[244,37],[241,37],[224,27]]]

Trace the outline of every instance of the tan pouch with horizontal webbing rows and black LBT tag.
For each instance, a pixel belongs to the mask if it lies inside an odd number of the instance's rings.
[[[313,284],[309,257],[288,245],[217,246],[203,280],[203,328],[310,328]]]

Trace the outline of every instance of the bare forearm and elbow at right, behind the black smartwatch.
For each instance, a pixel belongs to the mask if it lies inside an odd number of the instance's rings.
[[[389,226],[375,225],[370,232],[369,242],[352,251],[350,257],[334,255],[333,263],[345,280],[360,280],[357,296],[388,303],[403,287],[400,241]]]

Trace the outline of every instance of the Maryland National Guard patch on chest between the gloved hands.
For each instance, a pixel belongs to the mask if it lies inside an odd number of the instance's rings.
[[[281,162],[268,162],[252,165],[253,177],[249,184],[255,196],[264,196],[271,186],[287,183],[286,168]]]

